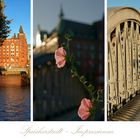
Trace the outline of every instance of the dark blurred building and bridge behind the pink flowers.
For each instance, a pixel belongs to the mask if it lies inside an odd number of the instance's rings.
[[[35,36],[34,120],[80,120],[78,106],[83,97],[89,97],[79,81],[71,77],[69,67],[60,70],[55,65],[54,52],[67,43],[66,34],[72,37],[69,46],[79,73],[96,90],[104,88],[104,18],[92,24],[66,19],[61,6],[54,29],[48,32],[38,26]],[[95,120],[104,118],[103,96]]]

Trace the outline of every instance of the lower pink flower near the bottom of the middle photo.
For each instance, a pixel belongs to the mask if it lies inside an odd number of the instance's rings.
[[[92,102],[89,99],[83,98],[81,105],[78,109],[78,116],[82,120],[86,120],[90,116],[90,109],[92,108]]]

